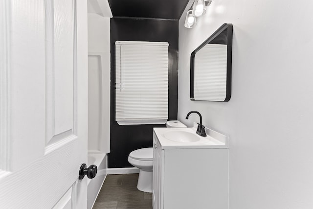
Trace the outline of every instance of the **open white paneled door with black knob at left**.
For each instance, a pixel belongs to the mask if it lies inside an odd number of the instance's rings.
[[[0,0],[0,208],[87,207],[87,0]]]

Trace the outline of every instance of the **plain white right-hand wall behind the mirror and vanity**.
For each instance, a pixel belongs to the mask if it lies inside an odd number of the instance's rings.
[[[190,6],[188,4],[188,8]],[[214,0],[195,28],[179,20],[178,119],[229,136],[230,209],[313,208],[313,1]],[[189,99],[190,54],[233,24],[229,102]]]

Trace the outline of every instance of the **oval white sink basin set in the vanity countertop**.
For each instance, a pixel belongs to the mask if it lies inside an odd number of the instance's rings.
[[[164,138],[181,143],[190,143],[200,141],[200,137],[196,133],[184,130],[172,130],[163,134]]]

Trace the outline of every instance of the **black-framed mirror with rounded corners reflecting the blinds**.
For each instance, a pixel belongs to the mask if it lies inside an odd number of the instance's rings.
[[[227,102],[231,96],[232,24],[224,23],[190,58],[190,99]]]

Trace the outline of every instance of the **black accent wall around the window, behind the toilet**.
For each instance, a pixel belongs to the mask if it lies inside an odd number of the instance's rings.
[[[178,20],[111,19],[111,153],[108,167],[132,167],[131,151],[153,145],[153,127],[164,125],[118,125],[115,121],[115,41],[169,43],[169,120],[177,119],[178,103]]]

